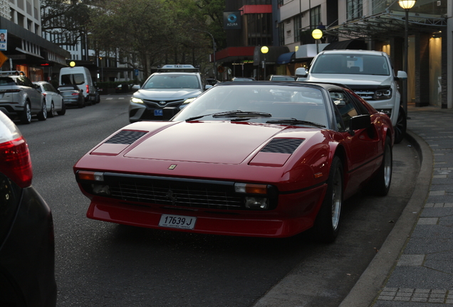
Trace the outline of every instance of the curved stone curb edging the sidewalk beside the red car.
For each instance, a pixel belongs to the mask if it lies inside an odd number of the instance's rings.
[[[348,296],[339,307],[373,306],[385,282],[392,274],[397,259],[417,225],[417,220],[425,206],[432,180],[434,157],[429,145],[420,136],[407,130],[406,139],[415,147],[420,157],[420,173],[412,194],[400,218],[382,244],[379,252],[368,265],[367,269],[355,283]]]

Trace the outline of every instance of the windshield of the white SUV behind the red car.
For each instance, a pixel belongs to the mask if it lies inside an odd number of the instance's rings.
[[[313,63],[311,73],[390,75],[387,59],[383,55],[323,54]]]

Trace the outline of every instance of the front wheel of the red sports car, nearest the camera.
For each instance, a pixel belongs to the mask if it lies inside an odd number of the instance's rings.
[[[330,166],[326,195],[316,216],[313,232],[316,241],[332,243],[340,229],[341,207],[343,205],[343,164],[335,156]]]

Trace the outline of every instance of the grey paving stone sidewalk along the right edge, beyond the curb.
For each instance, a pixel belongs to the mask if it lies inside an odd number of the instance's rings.
[[[408,117],[407,129],[432,150],[432,181],[412,234],[372,306],[453,307],[453,110],[410,105]]]

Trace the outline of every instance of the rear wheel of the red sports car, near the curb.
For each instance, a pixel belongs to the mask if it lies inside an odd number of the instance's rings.
[[[385,196],[392,183],[393,154],[390,138],[387,136],[384,144],[384,156],[375,177],[368,183],[368,191],[377,196]]]

